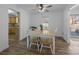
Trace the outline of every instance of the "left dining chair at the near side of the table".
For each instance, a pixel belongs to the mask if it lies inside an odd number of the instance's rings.
[[[29,41],[29,48],[31,48],[32,45],[36,45],[37,49],[39,51],[39,38],[38,38],[38,34],[37,31],[30,31],[30,41]]]

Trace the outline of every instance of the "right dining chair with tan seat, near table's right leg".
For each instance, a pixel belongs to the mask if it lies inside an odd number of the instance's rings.
[[[53,54],[53,38],[52,36],[44,35],[41,36],[40,40],[40,52],[42,52],[43,48],[50,48],[51,53]]]

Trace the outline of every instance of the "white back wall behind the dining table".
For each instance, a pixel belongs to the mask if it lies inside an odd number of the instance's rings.
[[[41,16],[43,15],[43,16]],[[44,16],[46,15],[46,16]],[[47,13],[36,13],[32,12],[31,13],[31,18],[30,18],[30,26],[31,25],[38,25],[43,22],[43,19],[46,17],[48,18],[48,23],[49,23],[49,28],[51,31],[53,31],[55,28],[58,29],[56,36],[62,36],[63,31],[62,31],[62,20],[63,20],[63,12],[47,12]]]

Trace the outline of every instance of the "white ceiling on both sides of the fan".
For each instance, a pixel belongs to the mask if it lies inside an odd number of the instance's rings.
[[[50,4],[50,5],[52,5],[52,7],[47,8],[49,11],[62,11],[65,9],[66,6],[68,6],[68,4]],[[17,6],[28,11],[37,11],[36,4],[19,4]]]

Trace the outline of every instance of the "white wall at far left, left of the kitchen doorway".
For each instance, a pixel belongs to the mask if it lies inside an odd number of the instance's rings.
[[[8,12],[7,7],[0,5],[0,51],[8,48]]]

